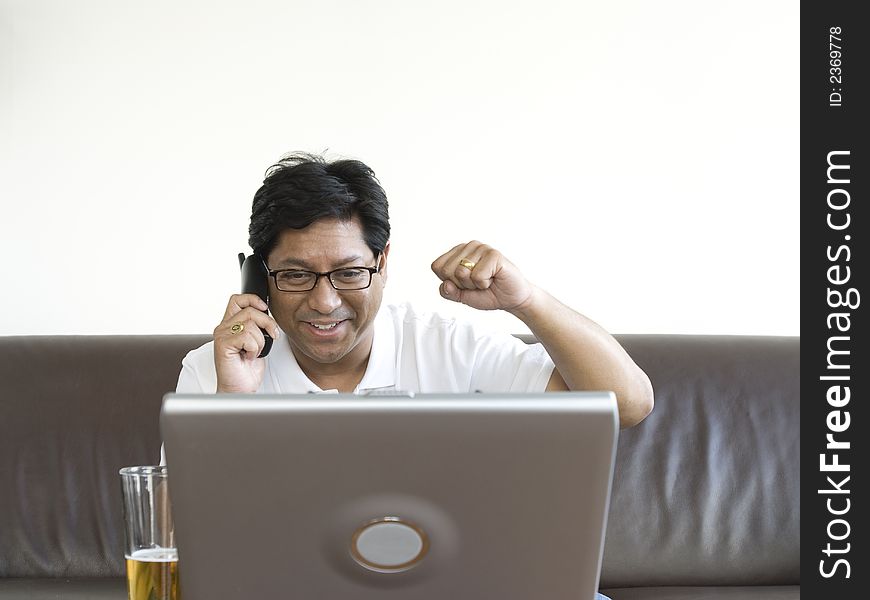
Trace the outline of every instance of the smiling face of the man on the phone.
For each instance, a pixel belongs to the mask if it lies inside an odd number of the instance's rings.
[[[387,244],[381,272],[372,275],[371,286],[364,290],[338,291],[326,277],[320,277],[309,292],[282,292],[269,278],[269,308],[303,369],[317,369],[320,365],[354,367],[368,358],[372,322],[386,283],[389,249]],[[305,229],[282,232],[266,264],[272,270],[323,273],[341,267],[376,267],[376,259],[363,240],[359,220],[321,219]]]

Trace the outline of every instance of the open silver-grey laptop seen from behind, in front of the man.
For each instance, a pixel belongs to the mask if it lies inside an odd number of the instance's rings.
[[[592,600],[611,392],[168,394],[187,600]]]

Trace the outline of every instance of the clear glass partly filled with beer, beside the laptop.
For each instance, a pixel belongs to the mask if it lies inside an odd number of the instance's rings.
[[[120,473],[129,598],[178,600],[178,550],[166,467],[124,467]]]

